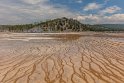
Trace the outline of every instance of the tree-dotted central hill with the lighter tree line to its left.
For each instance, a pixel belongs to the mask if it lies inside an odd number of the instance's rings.
[[[0,26],[0,31],[10,32],[73,32],[86,30],[89,30],[86,24],[65,17],[34,24]]]

